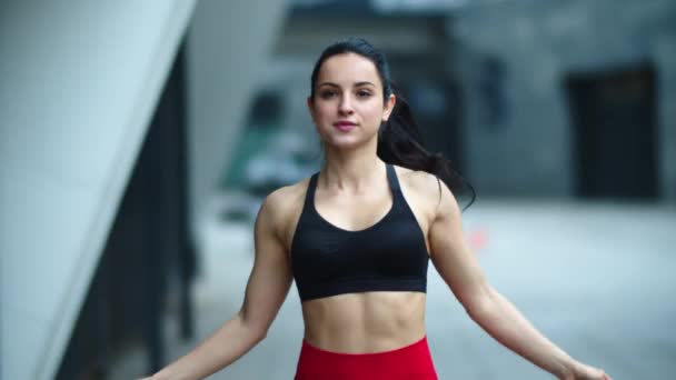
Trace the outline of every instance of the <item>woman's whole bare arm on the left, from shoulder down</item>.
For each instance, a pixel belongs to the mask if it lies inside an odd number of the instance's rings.
[[[239,312],[196,349],[153,374],[155,380],[202,379],[232,363],[267,334],[291,286],[279,233],[280,191],[268,196],[255,224],[255,260]]]

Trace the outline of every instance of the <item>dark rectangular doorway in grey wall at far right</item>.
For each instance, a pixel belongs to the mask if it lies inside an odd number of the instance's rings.
[[[650,64],[571,74],[576,196],[657,199],[655,70]]]

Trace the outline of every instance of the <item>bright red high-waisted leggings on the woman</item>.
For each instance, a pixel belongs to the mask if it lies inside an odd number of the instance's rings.
[[[339,353],[310,346],[300,349],[296,380],[437,380],[427,337],[392,351]]]

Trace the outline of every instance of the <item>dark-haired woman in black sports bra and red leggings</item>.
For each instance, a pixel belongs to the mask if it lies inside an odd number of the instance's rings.
[[[152,379],[200,379],[232,363],[266,337],[294,279],[305,321],[296,379],[437,379],[425,333],[430,259],[499,342],[559,379],[609,379],[488,284],[463,237],[461,178],[418,143],[380,52],[362,39],[328,47],[308,108],[326,162],[261,206],[241,310]]]

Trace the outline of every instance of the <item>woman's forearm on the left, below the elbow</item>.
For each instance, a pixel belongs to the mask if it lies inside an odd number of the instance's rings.
[[[157,380],[203,379],[232,363],[265,337],[238,313],[195,350],[152,376]]]

